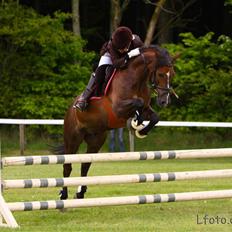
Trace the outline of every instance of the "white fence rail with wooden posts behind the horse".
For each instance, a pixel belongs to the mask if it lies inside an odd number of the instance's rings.
[[[63,119],[5,119],[0,118],[0,124],[19,125],[20,154],[25,150],[25,125],[63,125]],[[191,122],[191,121],[160,121],[156,126],[165,127],[224,127],[232,128],[232,122]],[[130,151],[134,151],[134,138],[130,133]]]

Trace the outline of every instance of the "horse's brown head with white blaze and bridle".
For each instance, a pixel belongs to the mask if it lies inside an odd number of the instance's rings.
[[[146,51],[148,53],[153,53],[153,60],[151,62],[152,66],[147,65],[148,69],[149,67],[151,69],[149,79],[152,89],[157,93],[157,104],[161,107],[165,107],[171,103],[170,95],[171,92],[173,92],[173,89],[171,88],[171,80],[175,75],[175,72],[173,69],[172,57],[166,49],[158,46],[150,46],[144,48],[143,51],[145,58]]]

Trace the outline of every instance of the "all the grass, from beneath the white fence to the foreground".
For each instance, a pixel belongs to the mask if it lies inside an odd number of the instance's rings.
[[[221,132],[221,131],[219,131]],[[17,143],[17,136],[11,136]],[[15,139],[15,140],[14,140]],[[11,141],[12,141],[11,140]],[[7,136],[2,137],[4,156],[18,154],[18,147],[11,148]],[[35,141],[35,140],[34,140]],[[126,141],[126,133],[125,133]],[[29,141],[26,154],[47,154],[44,146],[47,141]],[[43,144],[44,143],[44,144]],[[232,147],[230,134],[205,131],[173,131],[158,128],[144,140],[135,141],[136,150],[173,150],[193,148]],[[128,143],[126,143],[128,147]],[[36,148],[36,151],[34,150]],[[84,150],[84,147],[82,147]],[[103,151],[107,151],[107,143]],[[133,162],[95,163],[89,176],[139,174],[155,172],[175,172],[191,170],[213,170],[231,168],[231,158],[192,159],[192,160],[154,160]],[[79,176],[80,165],[73,165],[72,176]],[[30,179],[61,177],[62,165],[38,165],[25,167],[7,167],[2,171],[3,179]],[[190,191],[208,191],[230,189],[230,178],[191,180],[162,183],[120,184],[89,186],[86,198],[130,196]],[[42,201],[58,199],[60,188],[11,189],[4,191],[7,202]],[[69,188],[71,199],[76,188]],[[83,209],[69,209],[65,213],[58,210],[14,212],[21,228],[16,231],[230,231],[232,199],[175,202],[147,205],[108,206]],[[204,221],[204,217],[210,220]],[[216,221],[222,218],[222,221]],[[225,222],[226,223],[222,223]],[[204,223],[206,222],[206,223]],[[212,223],[214,222],[214,223]],[[218,223],[217,223],[218,222]],[[1,228],[1,232],[12,231]]]

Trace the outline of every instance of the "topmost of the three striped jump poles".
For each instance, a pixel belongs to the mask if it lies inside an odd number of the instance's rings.
[[[5,157],[2,158],[2,165],[16,166],[33,164],[92,163],[130,160],[220,157],[232,157],[232,148]]]

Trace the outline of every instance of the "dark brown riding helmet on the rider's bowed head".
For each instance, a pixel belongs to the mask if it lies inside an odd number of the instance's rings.
[[[133,35],[128,27],[119,27],[112,35],[112,44],[116,49],[123,49],[129,46]]]

